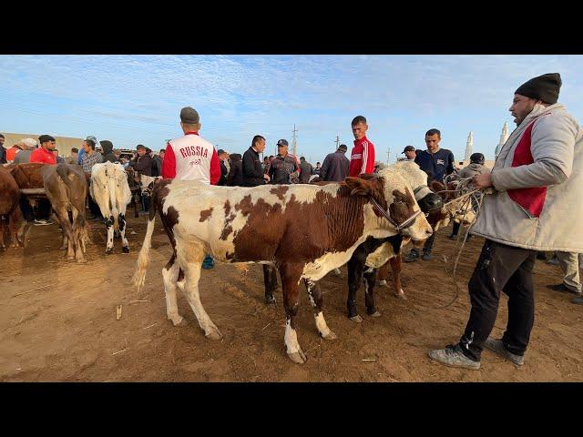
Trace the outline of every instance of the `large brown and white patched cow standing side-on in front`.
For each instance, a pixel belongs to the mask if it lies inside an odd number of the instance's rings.
[[[183,282],[180,288],[206,336],[221,338],[199,299],[205,253],[223,262],[274,264],[281,274],[287,353],[298,363],[306,361],[294,323],[301,279],[322,279],[345,264],[366,239],[397,234],[426,239],[432,233],[413,189],[398,175],[346,178],[322,187],[231,188],[163,180],[154,188],[146,238],[138,256],[134,276],[138,290],[145,281],[157,208],[174,249],[162,269],[169,320],[175,325],[183,321],[176,303],[176,289]],[[311,299],[320,334],[324,339],[335,338],[322,315],[322,296],[315,293]]]

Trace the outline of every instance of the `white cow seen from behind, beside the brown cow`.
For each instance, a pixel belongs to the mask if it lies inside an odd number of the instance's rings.
[[[107,255],[113,253],[114,231],[118,230],[124,253],[129,253],[126,239],[126,208],[131,201],[128,175],[119,164],[106,162],[91,168],[91,197],[106,219]]]

